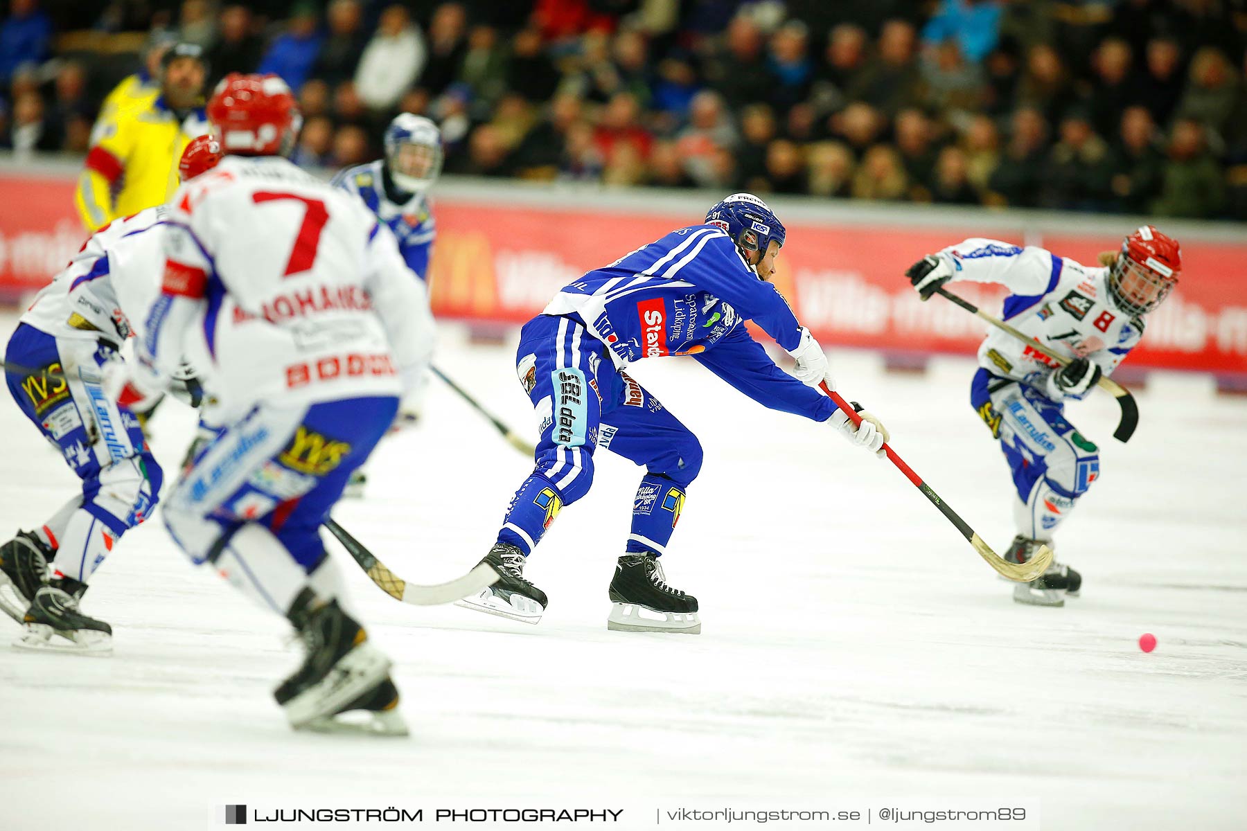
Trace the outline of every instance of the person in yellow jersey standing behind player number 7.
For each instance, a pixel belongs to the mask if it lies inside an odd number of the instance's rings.
[[[79,177],[75,204],[89,230],[161,204],[177,189],[177,163],[192,138],[207,132],[203,49],[176,44],[161,57],[155,101],[101,116]]]

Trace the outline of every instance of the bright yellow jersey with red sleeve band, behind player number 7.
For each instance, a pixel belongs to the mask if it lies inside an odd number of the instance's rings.
[[[182,151],[206,132],[202,108],[180,120],[162,96],[136,98],[102,115],[74,196],[82,224],[95,232],[117,217],[163,203],[178,187]]]

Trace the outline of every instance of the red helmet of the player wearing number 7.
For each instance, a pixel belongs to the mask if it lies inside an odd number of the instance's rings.
[[[286,156],[303,126],[291,87],[276,75],[231,72],[207,106],[212,135],[226,153]]]

